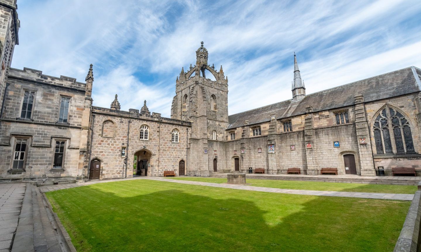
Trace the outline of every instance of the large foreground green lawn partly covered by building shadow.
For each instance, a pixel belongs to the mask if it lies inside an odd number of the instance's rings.
[[[131,180],[48,192],[77,251],[392,251],[409,201]]]

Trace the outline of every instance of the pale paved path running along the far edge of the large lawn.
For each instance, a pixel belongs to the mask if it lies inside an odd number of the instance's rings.
[[[86,183],[77,183],[77,184],[41,186],[40,190],[41,192],[50,192],[50,191],[55,191],[55,190],[60,190],[60,189],[73,188],[77,186],[85,186],[85,185],[90,185],[90,184],[107,183],[107,182],[122,181],[122,180],[133,180],[133,179],[149,179],[149,180],[155,180],[155,181],[165,181],[165,182],[173,182],[173,183],[180,183],[180,184],[192,184],[192,185],[199,185],[199,186],[221,187],[221,188],[249,190],[249,191],[258,191],[258,192],[274,192],[274,193],[317,195],[317,196],[331,196],[331,197],[353,197],[353,198],[365,198],[365,199],[398,199],[398,200],[412,200],[414,197],[413,194],[292,190],[292,189],[278,189],[278,188],[235,185],[235,184],[216,184],[216,183],[209,183],[209,182],[176,180],[176,179],[161,178],[161,177],[136,177],[136,178],[105,180],[105,181],[104,180],[89,181]]]

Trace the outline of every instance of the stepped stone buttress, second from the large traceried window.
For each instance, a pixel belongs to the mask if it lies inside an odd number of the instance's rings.
[[[314,144],[313,107],[306,108],[304,122],[304,144],[306,148],[307,173],[308,175],[319,175],[320,167],[317,162],[317,146]],[[323,157],[320,157],[323,158]]]

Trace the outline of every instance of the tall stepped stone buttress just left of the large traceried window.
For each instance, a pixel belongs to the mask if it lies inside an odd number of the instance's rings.
[[[368,128],[367,117],[365,116],[364,97],[354,96],[355,100],[355,131],[358,141],[358,155],[360,158],[361,176],[376,176],[373,164],[373,149]]]

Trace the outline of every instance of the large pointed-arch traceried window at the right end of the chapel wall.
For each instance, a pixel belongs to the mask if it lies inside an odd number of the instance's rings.
[[[386,105],[380,111],[373,123],[373,133],[377,154],[415,152],[408,119],[394,108]]]

